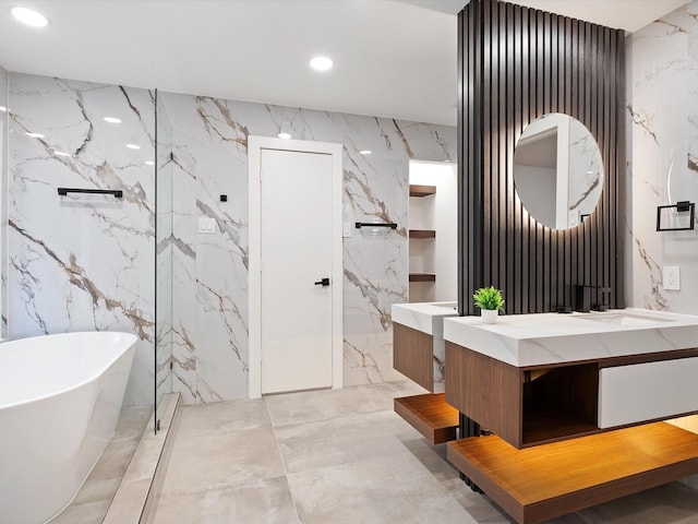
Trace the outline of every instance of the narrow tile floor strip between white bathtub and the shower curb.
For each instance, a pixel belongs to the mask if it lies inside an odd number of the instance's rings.
[[[139,445],[153,407],[124,407],[111,442],[71,504],[50,524],[99,524]],[[125,524],[125,523],[124,523]]]

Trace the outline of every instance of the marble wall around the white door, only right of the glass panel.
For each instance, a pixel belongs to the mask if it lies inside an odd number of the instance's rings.
[[[348,222],[399,224],[344,242],[345,385],[395,380],[390,305],[407,300],[409,159],[456,159],[456,129],[159,93],[172,124],[172,389],[186,403],[248,394],[250,134],[344,145]],[[359,151],[371,150],[372,155]],[[219,195],[228,201],[220,202]],[[197,233],[198,217],[216,221]]]

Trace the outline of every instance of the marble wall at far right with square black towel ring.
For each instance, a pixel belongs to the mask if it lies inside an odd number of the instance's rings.
[[[698,1],[627,45],[627,305],[698,314],[698,228],[655,230],[657,206],[698,202]],[[664,265],[681,267],[681,290],[663,289]]]

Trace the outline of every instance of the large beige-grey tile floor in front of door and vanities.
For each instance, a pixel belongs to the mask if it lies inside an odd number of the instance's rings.
[[[149,524],[510,523],[393,413],[411,382],[184,406]],[[555,524],[698,524],[673,483]]]

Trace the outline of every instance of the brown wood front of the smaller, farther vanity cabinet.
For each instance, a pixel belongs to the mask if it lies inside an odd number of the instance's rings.
[[[393,367],[425,390],[434,390],[434,337],[393,323]]]

